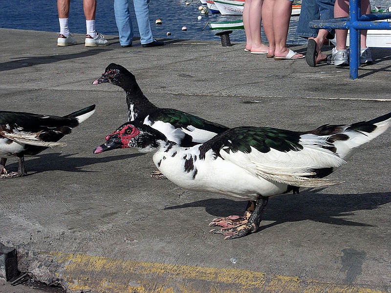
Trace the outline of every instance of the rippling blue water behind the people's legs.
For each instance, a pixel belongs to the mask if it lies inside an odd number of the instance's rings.
[[[209,14],[202,16],[198,7],[201,3],[198,0],[188,0],[190,5],[185,5],[186,0],[151,0],[151,24],[155,38],[186,39],[186,40],[208,40],[219,41],[215,34],[218,30],[210,30],[206,26],[208,21],[230,21],[239,20],[241,16],[222,16],[220,14]],[[381,0],[384,6],[391,6],[391,0]],[[381,2],[374,4],[378,5]],[[135,36],[138,35],[137,22],[134,11],[132,13]],[[115,24],[114,8],[112,0],[97,0],[96,11],[97,30],[106,35],[118,35]],[[156,25],[155,20],[161,19],[162,24]],[[304,39],[296,37],[295,30],[299,17],[292,17],[289,27],[287,43],[305,43]],[[182,31],[186,26],[187,31]],[[59,32],[57,2],[55,0],[1,0],[0,1],[0,27],[16,28],[25,30]],[[205,27],[205,28],[204,28]],[[86,33],[86,21],[83,12],[83,0],[71,0],[69,29],[73,33]],[[171,36],[167,36],[171,32]],[[262,32],[263,40],[266,40]],[[231,42],[245,42],[246,38],[243,29],[236,29],[230,35]]]

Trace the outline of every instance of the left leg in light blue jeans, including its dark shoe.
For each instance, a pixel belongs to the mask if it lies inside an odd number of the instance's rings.
[[[119,42],[129,46],[133,39],[133,25],[129,12],[129,0],[114,0],[115,22],[118,27]]]

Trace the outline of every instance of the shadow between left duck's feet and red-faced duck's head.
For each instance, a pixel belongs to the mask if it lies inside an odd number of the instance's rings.
[[[90,170],[83,170],[83,167],[94,165],[97,163],[109,163],[112,161],[119,161],[124,159],[135,158],[138,156],[144,155],[143,153],[134,153],[134,154],[126,154],[126,155],[118,155],[118,156],[99,156],[92,158],[87,157],[72,157],[76,153],[73,154],[64,154],[64,153],[44,153],[38,154],[34,157],[29,158],[25,162],[25,167],[27,170],[27,175],[31,175],[33,173],[41,173],[44,171],[54,171],[54,170],[62,170],[67,172],[95,172]],[[8,161],[7,161],[8,163]],[[7,164],[7,170],[17,170],[18,163]]]

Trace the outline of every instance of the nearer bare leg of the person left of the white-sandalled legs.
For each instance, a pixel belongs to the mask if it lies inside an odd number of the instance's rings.
[[[261,40],[262,0],[251,0],[249,26],[251,32],[251,53],[268,52],[269,47]]]

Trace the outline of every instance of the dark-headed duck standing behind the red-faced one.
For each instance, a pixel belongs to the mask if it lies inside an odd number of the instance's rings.
[[[111,63],[102,77],[92,84],[111,83],[126,93],[128,121],[138,121],[162,132],[180,146],[204,143],[228,127],[210,122],[192,114],[153,105],[143,94],[136,78],[125,67]]]

